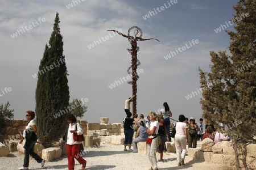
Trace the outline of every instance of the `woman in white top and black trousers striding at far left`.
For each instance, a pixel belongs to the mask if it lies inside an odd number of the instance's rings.
[[[36,141],[38,140],[38,136],[36,135],[36,132],[38,131],[38,128],[36,127],[36,122],[34,120],[35,118],[35,112],[33,111],[27,111],[26,114],[26,120],[28,120],[28,124],[26,126],[26,129],[23,132],[23,138],[20,139],[19,143],[23,142],[23,139],[26,138],[26,142],[24,144],[24,163],[23,167],[20,167],[20,170],[28,169],[28,165],[30,163],[30,156],[36,160],[36,162],[41,164],[41,167],[44,167],[44,163],[46,162],[38,154],[34,152],[34,146]]]

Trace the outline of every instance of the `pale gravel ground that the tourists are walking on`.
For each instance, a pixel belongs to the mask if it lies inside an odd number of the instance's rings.
[[[200,147],[200,145],[199,145]],[[133,147],[131,147],[133,148]],[[100,170],[100,169],[149,169],[150,163],[146,154],[123,151],[123,146],[110,145],[102,143],[100,147],[85,148],[89,151],[83,156],[87,161],[85,169]],[[0,157],[1,170],[13,170],[22,167],[23,154],[19,152],[11,152],[9,156]],[[160,159],[160,154],[156,154],[157,159]],[[164,162],[158,162],[159,169],[223,169],[222,165],[210,164],[207,162],[199,162],[193,160],[190,156],[186,156],[184,166],[177,167],[176,154],[164,152]],[[67,155],[61,158],[46,162],[43,168],[35,159],[30,159],[29,169],[68,169]],[[81,169],[81,165],[76,161],[75,169]]]

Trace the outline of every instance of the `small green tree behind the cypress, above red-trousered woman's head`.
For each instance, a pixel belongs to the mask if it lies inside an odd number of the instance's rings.
[[[87,111],[88,107],[83,106],[80,99],[73,99],[72,103],[69,103],[69,108],[71,108],[71,114],[81,118],[84,116],[84,113]]]

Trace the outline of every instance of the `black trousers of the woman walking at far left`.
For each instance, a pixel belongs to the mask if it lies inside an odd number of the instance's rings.
[[[23,167],[28,167],[29,163],[30,163],[30,155],[32,156],[32,158],[34,158],[36,160],[36,162],[38,163],[42,163],[42,158],[40,156],[38,156],[38,154],[36,154],[34,152],[34,147],[35,147],[35,143],[36,141],[28,141],[26,140],[26,143],[24,145],[24,164]]]

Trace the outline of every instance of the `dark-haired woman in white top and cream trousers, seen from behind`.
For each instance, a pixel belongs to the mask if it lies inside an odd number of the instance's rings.
[[[177,162],[178,166],[185,165],[184,159],[186,155],[186,144],[188,140],[188,134],[187,134],[187,124],[184,123],[185,116],[183,114],[180,114],[179,121],[176,122],[176,134],[174,138],[175,148],[176,148],[176,154],[177,154]]]

